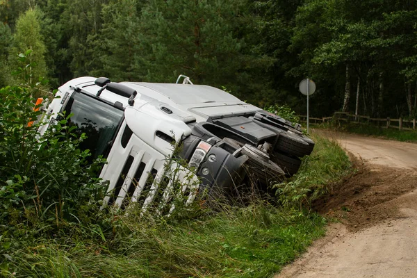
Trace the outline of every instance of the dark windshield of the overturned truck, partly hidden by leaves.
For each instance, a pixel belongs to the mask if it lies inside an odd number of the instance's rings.
[[[80,149],[90,149],[88,161],[102,155],[107,157],[113,145],[115,133],[123,119],[123,111],[98,99],[74,92],[65,106],[65,115],[72,117],[68,124],[77,127],[76,133],[85,133],[88,137],[80,144]]]

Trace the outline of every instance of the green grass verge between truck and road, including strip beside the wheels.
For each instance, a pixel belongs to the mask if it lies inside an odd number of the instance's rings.
[[[313,139],[300,172],[278,186],[285,206],[196,203],[172,218],[93,213],[88,227],[67,223],[52,236],[10,227],[0,237],[0,277],[270,277],[325,232],[325,218],[300,210],[302,200],[350,172],[336,143]]]

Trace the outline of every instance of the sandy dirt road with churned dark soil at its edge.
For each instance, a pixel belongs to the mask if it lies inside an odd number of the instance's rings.
[[[353,157],[357,174],[314,206],[329,225],[277,278],[417,277],[417,144],[327,133]]]

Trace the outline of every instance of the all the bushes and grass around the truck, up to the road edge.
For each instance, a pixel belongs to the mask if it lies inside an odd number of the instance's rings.
[[[0,90],[0,277],[268,277],[324,234],[309,202],[350,171],[336,144],[314,136],[299,174],[268,201],[201,201],[170,217],[100,210],[104,161],[87,165],[85,138],[65,125],[39,139],[27,125],[40,114],[33,92]]]

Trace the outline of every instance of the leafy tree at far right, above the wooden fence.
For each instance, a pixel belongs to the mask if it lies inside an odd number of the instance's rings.
[[[404,75],[400,74],[404,69],[400,62],[407,54],[415,53],[411,49],[415,40],[412,35],[415,10],[416,3],[400,0],[306,1],[297,11],[292,45],[300,51],[298,68],[304,67],[319,80],[334,83],[336,92],[345,88],[343,94],[338,93],[343,95],[344,101],[338,101],[343,111],[352,108],[350,79],[355,78],[358,80],[355,106],[360,106],[359,92],[362,92],[365,113],[395,115],[396,108],[406,104],[406,98],[411,99],[409,81],[404,81]],[[318,74],[326,71],[330,75]],[[337,84],[343,80],[343,71],[344,86]],[[402,97],[404,91],[406,98]],[[410,101],[408,104],[410,107]]]

